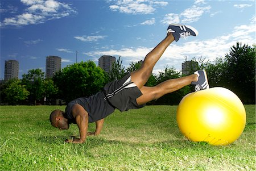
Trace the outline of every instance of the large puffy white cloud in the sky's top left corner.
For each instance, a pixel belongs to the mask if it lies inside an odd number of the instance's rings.
[[[2,26],[26,26],[44,23],[46,20],[59,19],[76,14],[69,5],[55,0],[21,0],[27,8],[23,14],[3,19]]]

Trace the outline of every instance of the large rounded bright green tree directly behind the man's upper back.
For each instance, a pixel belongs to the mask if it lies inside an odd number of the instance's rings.
[[[56,73],[53,81],[66,102],[93,95],[106,84],[104,70],[93,61],[69,65]]]

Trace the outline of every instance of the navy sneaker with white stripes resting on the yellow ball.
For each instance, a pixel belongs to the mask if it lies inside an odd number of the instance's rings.
[[[197,74],[198,80],[197,82],[192,82],[191,84],[196,85],[196,91],[209,89],[207,73],[205,72],[205,70],[197,70],[197,72],[195,72],[194,74]]]

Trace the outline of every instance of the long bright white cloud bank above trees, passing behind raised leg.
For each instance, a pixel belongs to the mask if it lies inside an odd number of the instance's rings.
[[[192,57],[205,57],[206,60],[215,60],[217,57],[225,57],[226,53],[229,53],[230,47],[236,45],[239,41],[245,44],[255,44],[254,32],[256,27],[254,24],[241,25],[233,28],[233,31],[229,34],[223,34],[215,37],[214,39],[207,40],[195,40],[195,41],[184,41],[183,44],[171,44],[166,49],[163,56],[156,64],[154,73],[158,73],[164,69],[164,66],[174,66],[177,70],[181,69],[181,63],[184,62],[184,57],[188,59]],[[85,55],[92,57],[100,57],[102,55],[111,56],[122,56],[123,65],[128,66],[131,61],[143,60],[144,57],[154,47],[138,47],[138,48],[121,48],[121,49],[110,49],[106,51],[91,51],[84,53]]]

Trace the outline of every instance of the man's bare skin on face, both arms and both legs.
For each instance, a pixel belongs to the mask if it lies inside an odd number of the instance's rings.
[[[167,80],[154,87],[147,87],[144,84],[151,76],[152,69],[155,63],[163,55],[164,51],[174,41],[172,34],[168,34],[166,38],[161,41],[144,59],[140,69],[131,73],[131,80],[141,90],[142,95],[136,99],[138,105],[150,102],[154,99],[162,97],[164,94],[172,93],[181,89],[184,86],[191,84],[192,81],[196,82],[198,77],[196,74],[190,76]],[[60,115],[56,117],[55,127],[60,130],[67,130],[69,128],[68,119],[64,118],[63,111],[58,110]],[[88,131],[88,112],[81,105],[74,105],[72,107],[73,117],[76,119],[77,126],[79,127],[80,139],[66,140],[67,143],[84,143],[87,135],[99,135],[103,127],[104,119],[96,121],[95,132]]]

